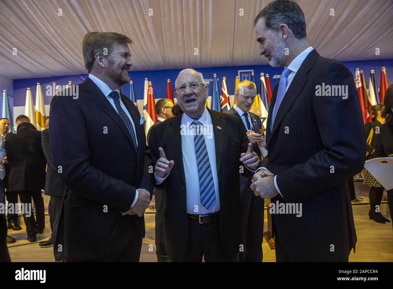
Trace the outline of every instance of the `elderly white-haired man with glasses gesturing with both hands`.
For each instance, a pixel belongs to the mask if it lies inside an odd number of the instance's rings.
[[[180,71],[175,96],[184,113],[150,132],[171,261],[236,261],[244,249],[239,172],[252,177],[260,159],[239,118],[205,107],[208,91],[201,73]]]

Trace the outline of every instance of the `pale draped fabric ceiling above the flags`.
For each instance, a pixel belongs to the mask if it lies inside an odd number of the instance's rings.
[[[258,54],[252,27],[268,2],[1,0],[0,75],[18,79],[86,73],[81,45],[89,31],[129,36],[134,42],[131,70],[268,64]],[[321,55],[340,61],[393,58],[391,0],[297,2],[306,17],[307,39]]]

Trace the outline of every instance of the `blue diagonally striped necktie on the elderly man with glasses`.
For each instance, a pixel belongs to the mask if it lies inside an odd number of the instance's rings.
[[[196,163],[198,164],[200,203],[204,208],[210,208],[216,202],[214,190],[213,174],[211,173],[208,149],[206,148],[205,139],[201,132],[202,123],[193,121],[191,124],[195,128],[194,145]]]

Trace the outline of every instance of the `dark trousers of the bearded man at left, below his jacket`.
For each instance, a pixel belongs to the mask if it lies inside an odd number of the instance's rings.
[[[110,256],[94,260],[78,260],[66,257],[66,262],[139,262],[142,248],[142,236],[136,231],[128,245]]]

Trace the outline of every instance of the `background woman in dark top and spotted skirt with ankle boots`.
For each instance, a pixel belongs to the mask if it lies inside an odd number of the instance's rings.
[[[384,104],[378,103],[377,105],[373,105],[370,110],[371,114],[374,116],[370,122],[367,122],[364,125],[366,138],[367,138],[367,157],[366,160],[370,160],[375,158],[375,147],[378,141],[378,136],[380,135],[380,129],[382,124],[385,123],[384,117],[381,116],[382,111],[384,110]],[[390,222],[389,219],[385,218],[379,210],[376,210],[381,205],[382,195],[384,193],[384,187],[367,171],[364,169],[364,181],[363,184],[366,186],[371,186],[369,198],[370,198],[370,211],[369,217],[371,220],[376,221],[377,223],[384,224],[385,222]],[[376,212],[377,211],[377,212]]]

